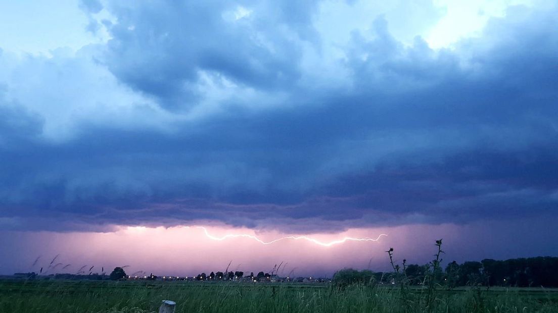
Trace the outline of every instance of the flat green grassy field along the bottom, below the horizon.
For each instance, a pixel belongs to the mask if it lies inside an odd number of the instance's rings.
[[[558,312],[558,291],[460,288],[402,294],[397,287],[208,282],[0,281],[0,312]]]

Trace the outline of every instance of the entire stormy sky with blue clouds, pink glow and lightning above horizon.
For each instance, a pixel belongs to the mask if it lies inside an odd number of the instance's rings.
[[[557,20],[537,0],[4,1],[0,273],[330,276],[440,238],[446,261],[558,256]]]

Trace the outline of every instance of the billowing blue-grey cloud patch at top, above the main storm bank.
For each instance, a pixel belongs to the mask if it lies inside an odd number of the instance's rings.
[[[288,89],[300,75],[301,41],[315,1],[117,4],[104,61],[122,81],[171,110],[199,101],[202,72],[254,89]],[[153,12],[156,12],[155,14]]]

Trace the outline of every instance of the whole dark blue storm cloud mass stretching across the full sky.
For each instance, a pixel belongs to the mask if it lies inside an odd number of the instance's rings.
[[[171,112],[203,100],[200,71],[282,94],[282,105],[233,97],[172,131],[81,123],[57,143],[37,140],[40,118],[0,106],[0,217],[333,231],[556,211],[556,12],[513,8],[436,51],[421,38],[403,45],[378,17],[346,51],[351,87],[314,88],[300,65],[302,46],[321,42],[315,3],[267,3],[272,21],[233,24],[222,14],[238,7],[214,5],[112,7],[99,62]]]

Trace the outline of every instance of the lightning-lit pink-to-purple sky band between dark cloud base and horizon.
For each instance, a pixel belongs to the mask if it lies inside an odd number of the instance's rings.
[[[291,275],[297,276],[331,276],[344,267],[388,270],[385,251],[389,247],[395,248],[397,262],[406,258],[409,263],[424,264],[432,256],[434,241],[440,238],[444,239],[446,261],[542,255],[545,252],[541,247],[531,244],[529,224],[514,227],[505,223],[412,224],[352,228],[341,233],[305,234],[306,239],[281,240],[277,239],[298,235],[227,226],[119,226],[116,231],[105,233],[0,231],[3,238],[0,251],[4,256],[0,260],[0,274],[39,272],[41,266],[46,269],[52,258],[60,254],[56,262],[71,266],[64,271],[59,266],[47,273],[76,273],[84,265],[94,266],[92,272],[101,272],[104,267],[109,273],[116,266],[129,265],[127,273],[145,271],[147,275],[152,272],[160,276],[186,276],[224,271],[232,261],[229,268],[232,271],[270,272],[273,266],[283,262],[279,275],[292,272]],[[511,233],[524,236],[510,246]],[[377,241],[343,241],[345,237]],[[521,249],[514,250],[516,246]],[[39,262],[32,266],[39,256]]]

